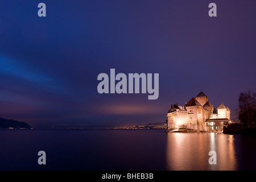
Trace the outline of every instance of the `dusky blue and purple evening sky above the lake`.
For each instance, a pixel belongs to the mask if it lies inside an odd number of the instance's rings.
[[[46,4],[46,17],[38,4]],[[217,16],[208,5],[217,5]],[[51,126],[166,121],[200,91],[236,117],[256,91],[256,1],[1,1],[0,117]],[[159,73],[159,97],[100,94],[100,73]]]

